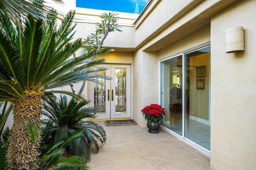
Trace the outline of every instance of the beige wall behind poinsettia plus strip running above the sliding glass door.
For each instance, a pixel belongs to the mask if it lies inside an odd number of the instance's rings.
[[[143,51],[143,46],[133,58],[133,119],[146,127],[141,109],[151,103],[160,104],[160,59],[175,55],[198,45],[210,42],[210,26],[203,28],[159,52]]]

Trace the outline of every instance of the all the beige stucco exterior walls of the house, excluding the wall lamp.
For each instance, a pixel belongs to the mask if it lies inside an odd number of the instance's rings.
[[[74,6],[74,2],[68,3],[71,7],[64,7],[64,13]],[[146,127],[146,121],[140,110],[150,103],[160,103],[159,60],[211,42],[211,169],[256,166],[255,8],[255,0],[153,0],[136,21],[134,32],[131,20],[122,17],[124,32],[106,40],[105,45],[120,47],[120,51],[136,49],[133,59],[130,54],[112,58],[110,53],[106,62],[132,63],[132,113],[141,127]],[[97,20],[100,13],[93,11],[89,16],[81,9],[77,12],[77,36],[86,38],[94,32],[92,20]],[[245,28],[244,52],[225,53],[225,29],[232,26]]]

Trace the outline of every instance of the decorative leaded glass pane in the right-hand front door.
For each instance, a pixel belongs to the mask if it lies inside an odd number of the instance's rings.
[[[115,69],[116,114],[126,113],[126,68]]]

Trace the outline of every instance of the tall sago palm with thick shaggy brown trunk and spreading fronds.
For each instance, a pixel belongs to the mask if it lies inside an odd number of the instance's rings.
[[[70,41],[74,35],[74,15],[70,11],[58,28],[54,10],[47,20],[28,15],[24,25],[17,27],[6,20],[8,17],[0,15],[0,101],[14,103],[7,155],[12,169],[36,168],[40,140],[33,144],[28,139],[26,124],[33,122],[40,128],[42,99],[54,93],[79,98],[58,88],[84,80],[94,81],[100,77],[97,71],[104,69],[92,68],[104,59],[84,61],[109,52],[110,48],[70,57],[83,45],[81,38]]]

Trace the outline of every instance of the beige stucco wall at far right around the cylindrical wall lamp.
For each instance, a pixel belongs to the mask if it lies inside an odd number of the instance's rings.
[[[211,169],[256,167],[256,1],[211,19]],[[244,27],[245,51],[225,53],[225,30]]]

